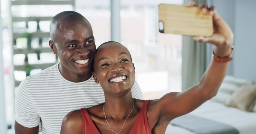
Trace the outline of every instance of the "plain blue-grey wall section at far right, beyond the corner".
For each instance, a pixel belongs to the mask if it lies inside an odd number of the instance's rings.
[[[234,76],[256,82],[256,0],[236,0]]]

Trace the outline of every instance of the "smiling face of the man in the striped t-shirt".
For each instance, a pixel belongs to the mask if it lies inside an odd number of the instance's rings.
[[[61,67],[67,74],[91,74],[96,46],[88,22],[66,21],[60,23],[54,38]]]

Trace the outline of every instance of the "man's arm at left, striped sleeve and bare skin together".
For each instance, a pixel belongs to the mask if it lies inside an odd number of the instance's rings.
[[[38,134],[40,117],[33,109],[25,79],[15,95],[15,134]]]

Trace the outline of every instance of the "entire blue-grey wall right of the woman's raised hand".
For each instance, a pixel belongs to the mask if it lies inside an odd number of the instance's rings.
[[[256,0],[209,0],[209,4],[234,32],[234,60],[228,74],[256,82]]]

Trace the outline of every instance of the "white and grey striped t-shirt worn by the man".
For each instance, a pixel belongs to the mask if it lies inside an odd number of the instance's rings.
[[[143,99],[136,82],[132,96]],[[15,96],[15,120],[29,128],[41,122],[43,134],[60,134],[62,120],[68,112],[103,102],[102,87],[93,77],[85,82],[70,82],[61,76],[57,63],[21,82]]]

